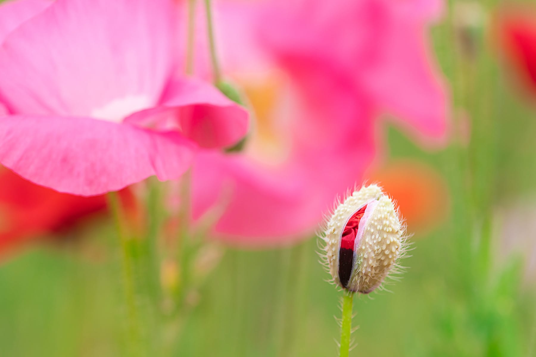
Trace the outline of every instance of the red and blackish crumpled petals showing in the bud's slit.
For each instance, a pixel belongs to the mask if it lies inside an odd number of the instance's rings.
[[[366,209],[367,205],[365,204],[348,219],[348,223],[346,223],[343,230],[343,237],[341,237],[339,248],[339,279],[344,287],[348,287],[348,282],[354,270],[354,243],[358,235],[359,223]]]

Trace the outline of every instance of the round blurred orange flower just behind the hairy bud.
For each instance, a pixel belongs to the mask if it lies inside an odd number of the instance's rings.
[[[425,233],[440,224],[449,212],[445,180],[429,165],[411,159],[373,169],[370,183],[378,182],[398,202],[408,232]]]

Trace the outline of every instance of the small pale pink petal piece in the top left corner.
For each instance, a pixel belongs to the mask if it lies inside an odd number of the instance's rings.
[[[51,5],[50,0],[11,0],[0,4],[0,43],[24,21]]]

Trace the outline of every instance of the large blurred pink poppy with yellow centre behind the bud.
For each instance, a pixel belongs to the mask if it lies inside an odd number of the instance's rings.
[[[194,218],[218,212],[215,236],[236,245],[290,244],[360,182],[381,114],[444,143],[448,100],[426,41],[440,10],[435,0],[221,3],[222,62],[257,125],[243,154],[196,157]]]

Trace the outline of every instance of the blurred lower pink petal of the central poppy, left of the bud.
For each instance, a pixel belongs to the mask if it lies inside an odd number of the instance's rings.
[[[314,226],[311,218],[320,214],[314,205],[304,205],[303,178],[301,172],[270,170],[239,155],[201,153],[193,166],[193,215],[223,210],[215,233],[227,242],[263,246],[288,241],[304,226]]]

